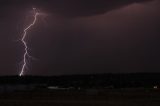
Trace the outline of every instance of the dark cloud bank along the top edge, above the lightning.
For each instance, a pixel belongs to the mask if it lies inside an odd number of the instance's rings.
[[[65,17],[91,16],[103,14],[113,9],[152,0],[14,0],[1,1],[1,6],[31,7],[35,6],[43,11],[62,15]]]

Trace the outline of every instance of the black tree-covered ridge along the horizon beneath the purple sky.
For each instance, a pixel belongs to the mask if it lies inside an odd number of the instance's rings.
[[[81,88],[126,88],[146,87],[160,85],[160,73],[132,73],[132,74],[92,74],[92,75],[67,75],[67,76],[3,76],[0,85],[14,84],[45,84],[59,87]]]

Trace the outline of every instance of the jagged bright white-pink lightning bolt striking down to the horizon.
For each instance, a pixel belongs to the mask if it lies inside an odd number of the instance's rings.
[[[21,71],[20,71],[20,73],[19,73],[19,76],[23,76],[23,75],[24,75],[24,71],[25,71],[26,66],[27,66],[27,57],[31,57],[31,56],[29,55],[29,53],[28,53],[28,46],[27,46],[27,43],[26,43],[26,41],[25,41],[25,38],[26,38],[26,36],[27,36],[28,30],[30,30],[31,27],[35,25],[35,23],[36,23],[36,21],[37,21],[37,16],[39,15],[39,13],[36,11],[36,8],[33,8],[33,11],[34,11],[34,20],[33,20],[33,22],[32,22],[29,26],[27,26],[27,27],[24,29],[24,34],[23,34],[23,37],[22,37],[22,39],[21,39],[21,42],[22,42],[23,45],[24,45],[24,50],[25,50],[25,52],[24,52],[24,55],[23,55],[23,65],[22,65]]]

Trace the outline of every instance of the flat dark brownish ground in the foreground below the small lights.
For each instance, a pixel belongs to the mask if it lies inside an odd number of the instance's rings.
[[[159,89],[6,92],[0,106],[160,106]]]

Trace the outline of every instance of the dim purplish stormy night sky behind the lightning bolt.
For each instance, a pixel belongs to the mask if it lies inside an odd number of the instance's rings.
[[[0,75],[160,72],[159,0],[1,0]]]

